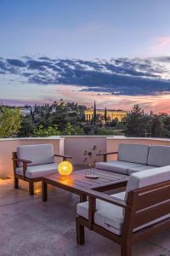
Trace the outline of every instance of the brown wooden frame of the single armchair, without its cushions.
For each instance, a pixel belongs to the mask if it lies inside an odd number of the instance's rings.
[[[72,158],[72,156],[62,155],[62,154],[54,154],[54,156],[61,157],[63,158],[63,160]],[[42,177],[35,177],[35,178],[26,177],[27,166],[28,164],[31,163],[31,160],[24,160],[24,159],[17,158],[16,152],[12,153],[12,160],[13,160],[13,167],[14,167],[14,189],[19,189],[19,179],[22,179],[29,183],[29,193],[30,195],[34,195],[34,183],[41,181]],[[18,167],[19,163],[23,164],[22,166],[23,175],[16,173],[16,168]]]

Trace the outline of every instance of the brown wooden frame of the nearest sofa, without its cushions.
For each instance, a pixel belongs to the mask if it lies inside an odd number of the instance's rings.
[[[94,190],[88,190],[86,193],[88,195],[88,219],[78,215],[76,217],[77,244],[79,245],[84,243],[84,227],[87,227],[89,230],[94,230],[100,235],[119,243],[122,256],[131,256],[134,243],[156,234],[157,231],[170,228],[170,218],[166,218],[159,223],[133,232],[134,229],[170,213],[170,181],[130,191],[127,194],[126,202]],[[96,199],[124,209],[121,236],[117,236],[94,223]]]

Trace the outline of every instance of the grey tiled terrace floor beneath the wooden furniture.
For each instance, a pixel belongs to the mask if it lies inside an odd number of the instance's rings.
[[[28,195],[26,183],[13,189],[12,179],[0,181],[0,256],[88,256],[120,255],[120,247],[86,230],[86,243],[77,246],[75,213],[77,195],[50,189],[48,201],[41,201],[40,183],[36,195]],[[170,230],[152,236],[133,247],[135,256],[169,256]]]

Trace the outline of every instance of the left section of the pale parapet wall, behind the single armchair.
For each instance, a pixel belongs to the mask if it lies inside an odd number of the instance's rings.
[[[64,137],[0,139],[0,177],[8,177],[13,175],[13,165],[11,160],[12,152],[16,151],[18,146],[52,143],[54,144],[54,152],[56,154],[64,154],[64,141]],[[56,161],[59,161],[59,159]]]

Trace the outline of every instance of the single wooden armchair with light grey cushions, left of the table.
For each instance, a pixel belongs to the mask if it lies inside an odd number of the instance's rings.
[[[25,145],[13,152],[14,188],[19,189],[19,179],[29,183],[30,195],[34,195],[34,183],[41,181],[43,176],[57,172],[58,163],[54,157],[63,160],[71,159],[71,156],[54,154],[53,144]]]

